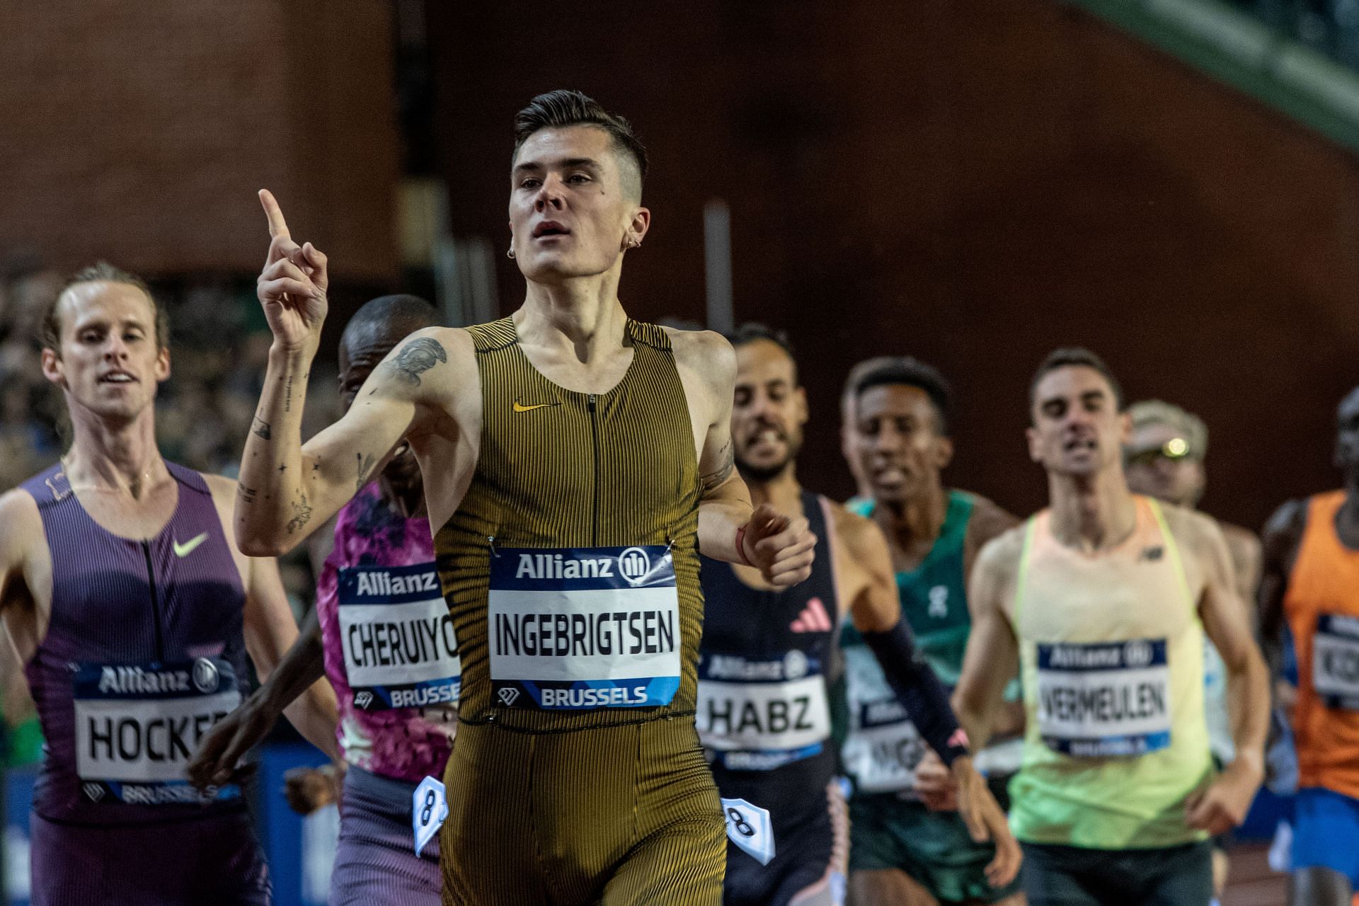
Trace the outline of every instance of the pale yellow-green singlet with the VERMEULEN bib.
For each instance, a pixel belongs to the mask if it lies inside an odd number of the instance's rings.
[[[1203,625],[1161,507],[1136,497],[1118,547],[1025,527],[1015,590],[1027,727],[1010,825],[1031,844],[1147,849],[1201,839],[1185,800],[1211,780]]]

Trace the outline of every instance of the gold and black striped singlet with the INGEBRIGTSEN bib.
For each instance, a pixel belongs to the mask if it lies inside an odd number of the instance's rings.
[[[481,452],[435,537],[459,720],[564,732],[692,714],[701,486],[670,338],[629,319],[626,374],[586,394],[533,367],[512,319],[467,331]]]

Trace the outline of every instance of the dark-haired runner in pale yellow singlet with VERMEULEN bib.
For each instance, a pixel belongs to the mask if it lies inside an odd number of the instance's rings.
[[[1022,667],[1025,755],[1010,784],[1034,906],[1212,898],[1210,834],[1241,823],[1264,773],[1269,693],[1222,532],[1133,496],[1109,368],[1059,349],[1030,386],[1029,455],[1049,509],[977,558],[954,708],[980,744]],[[1203,636],[1227,667],[1235,758],[1214,777]]]

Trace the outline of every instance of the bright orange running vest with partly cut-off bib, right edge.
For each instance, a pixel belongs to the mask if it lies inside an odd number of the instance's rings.
[[[1344,500],[1307,501],[1283,609],[1298,649],[1298,785],[1359,799],[1359,550],[1336,535]]]

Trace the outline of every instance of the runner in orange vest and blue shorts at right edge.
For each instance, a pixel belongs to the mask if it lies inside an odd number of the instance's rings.
[[[1264,531],[1261,634],[1279,672],[1298,660],[1292,902],[1348,905],[1359,888],[1359,388],[1337,412],[1344,488],[1290,500]]]

